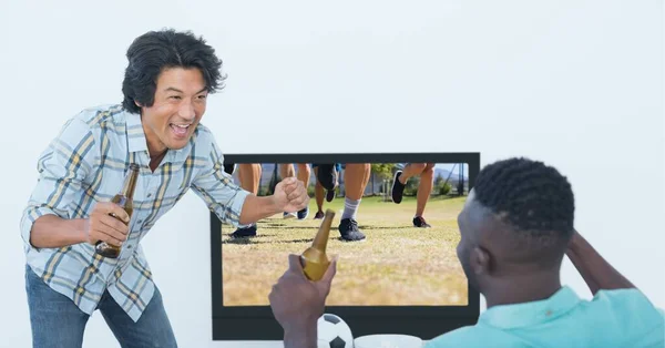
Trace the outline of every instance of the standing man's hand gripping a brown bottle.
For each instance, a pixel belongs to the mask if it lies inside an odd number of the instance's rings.
[[[88,218],[88,243],[95,245],[102,240],[120,247],[127,238],[129,224],[130,216],[122,207],[115,203],[100,202]]]

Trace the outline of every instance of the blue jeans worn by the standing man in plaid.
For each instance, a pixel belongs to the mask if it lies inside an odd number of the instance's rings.
[[[79,348],[90,316],[66,296],[51,289],[29,266],[25,267],[25,291],[30,309],[32,347]],[[155,294],[139,321],[130,316],[105,291],[98,305],[104,320],[122,348],[177,347],[162,296]],[[90,346],[94,346],[91,342]]]

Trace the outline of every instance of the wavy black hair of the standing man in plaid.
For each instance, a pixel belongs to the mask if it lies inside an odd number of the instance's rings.
[[[132,113],[144,106],[152,106],[157,78],[166,68],[198,68],[203,73],[208,93],[214,93],[224,81],[222,60],[203,38],[192,32],[176,32],[173,29],[150,31],[136,38],[127,49],[129,65],[122,83],[124,100],[122,105]]]

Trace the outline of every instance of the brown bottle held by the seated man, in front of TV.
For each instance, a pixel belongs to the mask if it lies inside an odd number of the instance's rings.
[[[335,212],[327,209],[321,226],[314,237],[314,242],[311,242],[311,246],[300,255],[303,270],[309,280],[316,282],[323,278],[324,274],[326,274],[326,269],[328,269],[328,266],[330,265],[330,260],[326,255],[326,247],[328,246],[328,236],[330,235],[332,217],[335,217]]]

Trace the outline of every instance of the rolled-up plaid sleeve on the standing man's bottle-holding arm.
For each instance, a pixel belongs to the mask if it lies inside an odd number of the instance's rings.
[[[25,248],[34,222],[44,215],[70,217],[71,202],[91,172],[95,146],[88,124],[72,119],[38,161],[39,177],[21,216],[21,238]]]

